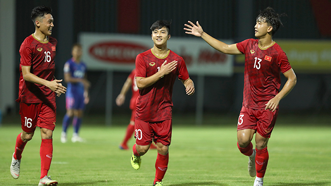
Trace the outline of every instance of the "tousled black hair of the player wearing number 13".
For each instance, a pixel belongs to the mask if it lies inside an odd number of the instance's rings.
[[[283,26],[280,21],[280,17],[286,16],[286,14],[277,14],[271,7],[267,7],[256,17],[256,21],[261,20],[272,27],[272,36],[277,32],[280,26]]]

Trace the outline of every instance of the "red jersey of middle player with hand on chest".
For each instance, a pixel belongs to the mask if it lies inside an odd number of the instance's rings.
[[[158,80],[153,85],[141,89],[137,99],[136,119],[155,122],[172,119],[173,86],[177,78],[189,79],[189,73],[182,57],[169,50],[165,58],[157,58],[150,50],[138,54],[135,60],[136,77],[149,77],[159,71],[167,60],[168,63],[176,60],[176,69]]]

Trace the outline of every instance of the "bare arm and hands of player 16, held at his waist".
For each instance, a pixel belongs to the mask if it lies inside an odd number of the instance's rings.
[[[22,66],[22,75],[24,81],[44,85],[50,88],[53,92],[55,92],[57,96],[66,93],[67,88],[60,83],[62,79],[61,80],[55,79],[53,81],[48,81],[46,79],[40,78],[32,74],[30,70],[31,70],[31,66]]]

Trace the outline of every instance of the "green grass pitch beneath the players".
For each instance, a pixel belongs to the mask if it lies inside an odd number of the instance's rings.
[[[279,116],[280,118],[280,116]],[[269,162],[265,186],[331,185],[331,124],[296,118],[280,119],[268,144]],[[142,156],[139,170],[130,164],[132,150],[119,150],[129,116],[114,118],[106,127],[102,120],[85,119],[81,129],[84,143],[60,142],[61,120],[53,134],[53,160],[49,175],[59,186],[69,185],[152,185],[156,150]],[[175,117],[170,145],[165,186],[253,185],[247,172],[248,157],[236,145],[236,117],[214,117],[202,126]],[[296,121],[294,123],[292,121]],[[15,123],[15,122],[14,122]],[[37,185],[40,176],[40,131],[27,143],[22,154],[21,175],[10,174],[10,163],[19,123],[3,123],[0,127],[0,185]],[[129,145],[132,146],[131,138]],[[253,142],[254,144],[254,142]]]

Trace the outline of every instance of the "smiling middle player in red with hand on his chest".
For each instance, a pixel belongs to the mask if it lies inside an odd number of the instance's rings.
[[[176,79],[180,79],[187,95],[193,95],[195,87],[189,77],[182,57],[167,48],[170,39],[170,22],[156,21],[150,27],[153,48],[137,55],[135,60],[136,83],[139,88],[135,114],[135,139],[131,165],[139,169],[140,156],[156,143],[155,179],[153,185],[163,185],[168,168],[169,145],[172,136],[172,94]]]

